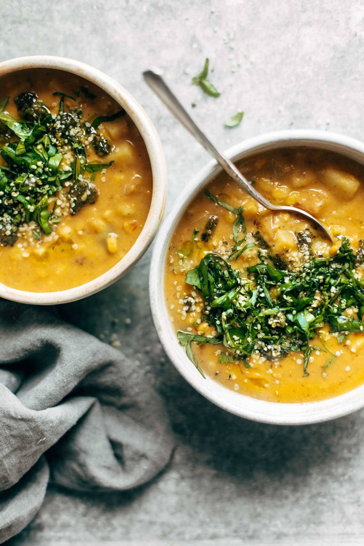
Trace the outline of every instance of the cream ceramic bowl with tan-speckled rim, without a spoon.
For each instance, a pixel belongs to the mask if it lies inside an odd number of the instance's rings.
[[[61,304],[85,298],[86,296],[110,286],[110,284],[125,275],[142,257],[153,241],[163,218],[167,193],[166,164],[159,136],[145,110],[136,102],[134,97],[124,89],[124,87],[110,78],[110,76],[103,74],[96,68],[88,66],[88,64],[49,55],[20,57],[2,62],[0,63],[0,76],[31,68],[55,68],[64,70],[64,72],[70,72],[71,74],[81,76],[106,91],[110,97],[115,99],[116,102],[126,110],[136,127],[138,127],[148,151],[153,174],[152,202],[144,228],[126,256],[109,271],[106,271],[106,273],[93,281],[60,292],[25,292],[23,290],[9,288],[0,283],[0,298],[19,301],[26,304]]]

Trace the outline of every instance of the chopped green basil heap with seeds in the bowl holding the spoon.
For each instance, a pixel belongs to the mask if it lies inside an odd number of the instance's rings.
[[[244,278],[219,254],[207,254],[188,271],[186,282],[204,296],[209,309],[204,321],[217,335],[179,332],[178,339],[185,340],[182,345],[189,342],[189,354],[190,343],[200,338],[201,343],[223,342],[232,355],[228,360],[220,355],[219,362],[243,360],[253,354],[278,361],[299,351],[303,353],[304,377],[309,375],[312,350],[329,352],[332,357],[323,366],[327,370],[337,355],[327,347],[320,329],[329,325],[331,334],[338,333],[339,343],[350,332],[364,332],[364,283],[356,278],[357,263],[358,257],[345,238],[336,256],[312,257],[309,267],[301,272],[259,263],[247,268],[248,277]],[[345,314],[353,308],[356,314]],[[315,336],[324,348],[311,346]]]

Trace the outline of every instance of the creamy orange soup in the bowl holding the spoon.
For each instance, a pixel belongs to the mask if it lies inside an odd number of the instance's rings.
[[[244,251],[237,260],[229,262],[247,276],[247,268],[259,263],[258,246],[252,234],[259,232],[270,247],[270,253],[282,259],[290,270],[304,272],[308,256],[297,246],[297,232],[310,234],[309,246],[313,257],[330,258],[336,255],[345,236],[356,251],[364,238],[361,203],[364,200],[364,169],[349,159],[333,153],[311,149],[276,150],[244,160],[238,164],[241,172],[253,181],[255,188],[273,203],[302,207],[329,227],[334,236],[331,244],[320,230],[300,216],[274,213],[266,210],[249,197],[225,173],[219,174],[208,190],[221,201],[236,208],[243,205],[247,238],[255,246]],[[206,223],[217,217],[208,240]],[[208,253],[217,253],[228,260],[231,254],[232,224],[236,215],[214,203],[204,191],[188,206],[172,234],[165,265],[165,299],[173,327],[187,333],[214,336],[216,328],[203,316],[204,297],[185,282],[187,272],[200,263]],[[210,225],[211,227],[211,225]],[[192,250],[182,257],[181,248],[187,249],[193,230],[198,230]],[[305,265],[306,263],[306,265]],[[356,275],[362,276],[358,265]],[[353,314],[348,310],[348,316]],[[355,314],[355,313],[354,313]],[[337,334],[329,334],[329,325],[317,329],[319,337],[310,340],[312,348],[307,371],[303,376],[303,352],[289,352],[279,361],[246,357],[247,368],[241,359],[218,363],[219,355],[231,354],[223,343],[197,345],[191,343],[192,352],[206,376],[237,393],[272,402],[311,402],[345,393],[364,381],[364,334],[349,333],[342,342]],[[335,356],[330,366],[328,361]],[[193,365],[191,363],[191,365]],[[196,371],[198,373],[198,371]]]

